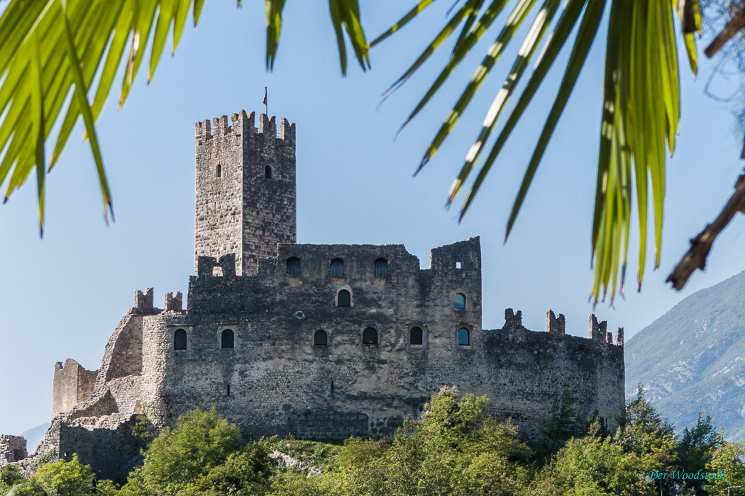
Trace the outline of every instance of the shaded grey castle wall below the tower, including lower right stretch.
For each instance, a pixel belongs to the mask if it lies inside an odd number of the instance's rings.
[[[549,312],[547,332],[532,332],[511,311],[503,329],[481,329],[478,238],[435,248],[424,270],[402,245],[278,249],[256,276],[213,276],[208,268],[217,261],[201,260],[186,314],[145,318],[153,356],[163,360],[163,422],[209,405],[247,436],[359,435],[361,416],[367,435],[380,436],[418,416],[443,385],[489,396],[489,412],[513,419],[531,439],[541,438],[565,387],[588,415],[597,410],[613,425],[621,413],[623,349],[597,338],[600,330],[593,339],[565,335],[563,316]],[[300,260],[297,277],[287,273],[290,257]],[[375,277],[381,257],[388,277]],[[344,261],[343,277],[330,274],[333,258]],[[336,305],[342,289],[352,294],[349,308]],[[454,308],[457,293],[466,295],[466,309]],[[605,324],[595,325],[605,336]],[[410,344],[413,326],[424,331],[421,346]],[[378,344],[363,344],[367,327]],[[469,329],[468,346],[457,342],[461,327]],[[177,329],[187,333],[186,350],[173,349]],[[225,329],[235,334],[234,348],[221,348]],[[326,347],[314,346],[319,329]]]

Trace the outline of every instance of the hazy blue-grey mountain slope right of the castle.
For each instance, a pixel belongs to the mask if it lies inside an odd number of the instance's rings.
[[[745,271],[702,289],[625,344],[626,390],[679,431],[703,410],[730,439],[745,439]]]

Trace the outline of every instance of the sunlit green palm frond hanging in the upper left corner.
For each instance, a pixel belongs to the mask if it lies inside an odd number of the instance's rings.
[[[203,0],[194,3],[197,22]],[[95,120],[117,69],[127,61],[120,105],[129,94],[152,33],[148,80],[173,29],[175,51],[191,0],[11,1],[0,17],[0,184],[5,200],[37,171],[39,228],[43,229],[45,144],[60,122],[51,170],[82,117],[104,204],[113,215]],[[60,49],[61,48],[61,49]],[[100,74],[94,88],[95,75]],[[72,100],[68,96],[72,94]],[[95,94],[93,103],[89,96]]]

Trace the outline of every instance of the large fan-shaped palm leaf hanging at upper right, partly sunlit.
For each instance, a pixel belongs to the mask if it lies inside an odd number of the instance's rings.
[[[487,15],[488,8],[494,7],[495,3],[492,2],[481,13],[482,19]],[[507,1],[501,2],[499,10],[507,3]],[[638,283],[641,285],[644,275],[647,251],[647,196],[650,193],[653,204],[655,267],[659,266],[659,249],[662,245],[662,207],[665,199],[665,144],[672,152],[680,117],[678,47],[673,30],[676,2],[611,0],[610,3],[612,7],[606,40],[606,74],[603,83],[603,123],[600,128],[595,215],[592,225],[592,256],[595,270],[592,297],[595,303],[608,293],[611,295],[612,302],[618,289],[623,292],[634,189],[640,224]],[[586,61],[587,54],[593,45],[595,35],[600,29],[606,1],[568,0],[566,2],[553,33],[548,37],[537,57],[533,74],[530,75],[527,85],[507,115],[507,119],[500,124],[499,117],[507,105],[507,100],[513,94],[524,69],[534,58],[536,48],[551,24],[558,6],[558,2],[551,0],[545,0],[539,9],[535,8],[535,2],[531,0],[514,0],[513,4],[513,13],[505,21],[495,43],[489,48],[483,62],[475,69],[463,93],[448,112],[443,125],[440,126],[425,151],[418,169],[428,164],[437,149],[448,138],[466,106],[481,88],[486,77],[493,72],[499,55],[512,41],[516,28],[527,16],[532,15],[533,25],[523,39],[519,55],[513,62],[504,84],[495,95],[494,102],[489,112],[486,113],[481,132],[468,150],[463,167],[448,194],[448,204],[450,204],[463,189],[473,170],[480,167],[460,209],[462,219],[472,205],[484,178],[495,164],[507,139],[533,100],[537,89],[545,80],[548,69],[556,61],[559,51],[562,50],[571,33],[576,31],[574,45],[564,69],[562,82],[559,83],[554,105],[538,137],[536,148],[527,164],[522,184],[507,220],[505,239],[509,236],[519,211],[527,199],[527,192],[551,140],[551,135],[556,129],[568,98],[577,83],[577,77]],[[697,12],[694,21],[697,22],[697,28],[700,28],[700,8],[697,2],[694,4],[694,11]],[[480,3],[477,5],[474,2],[466,2],[466,5],[461,7],[460,19],[454,16],[446,25],[446,30],[452,31],[456,28],[454,25],[456,19],[460,23],[463,19],[472,19],[472,16],[475,16],[473,12],[463,13],[463,9],[469,5],[472,8],[481,8]],[[406,20],[408,22],[411,18]],[[472,48],[473,45],[469,44],[469,39],[475,41],[476,28],[470,28],[467,22],[463,24],[463,30],[453,55],[422,100],[415,106],[405,124],[430,102],[434,93],[451,77],[454,67],[463,59],[464,52]],[[489,25],[490,23],[486,23],[487,29]],[[469,28],[470,33],[465,34]],[[478,36],[481,35],[483,32],[478,33]],[[682,45],[688,52],[691,69],[695,72],[697,68],[696,48],[691,33],[685,33]],[[411,68],[394,83],[393,88],[405,83],[437,46],[431,43]],[[500,129],[495,141],[491,144],[489,153],[485,158],[481,158],[487,142],[492,137],[492,132],[498,125]]]

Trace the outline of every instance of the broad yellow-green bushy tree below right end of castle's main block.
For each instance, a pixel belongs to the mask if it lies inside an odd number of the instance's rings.
[[[522,494],[530,450],[514,425],[485,415],[487,403],[443,388],[422,421],[405,421],[392,441],[346,443],[337,471],[326,477],[343,495]]]

